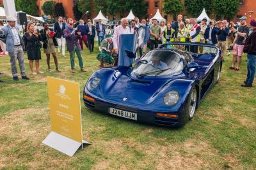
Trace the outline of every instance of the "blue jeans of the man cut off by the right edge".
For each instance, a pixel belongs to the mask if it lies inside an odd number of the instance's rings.
[[[246,83],[252,84],[256,69],[256,55],[247,54],[247,78]]]

